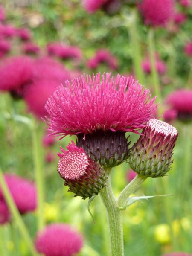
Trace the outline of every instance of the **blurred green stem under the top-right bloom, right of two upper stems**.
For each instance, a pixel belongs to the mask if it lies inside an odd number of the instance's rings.
[[[148,31],[148,45],[149,45],[149,55],[151,62],[151,77],[154,86],[154,93],[157,95],[157,101],[162,102],[161,91],[160,91],[160,81],[159,76],[156,69],[156,61],[155,61],[155,44],[154,44],[154,30],[153,28],[149,28]]]

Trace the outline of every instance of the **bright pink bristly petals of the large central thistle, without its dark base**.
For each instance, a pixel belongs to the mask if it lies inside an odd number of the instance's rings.
[[[63,136],[110,130],[137,133],[156,108],[156,97],[150,96],[134,79],[119,75],[114,79],[110,73],[66,81],[45,105],[49,130]]]

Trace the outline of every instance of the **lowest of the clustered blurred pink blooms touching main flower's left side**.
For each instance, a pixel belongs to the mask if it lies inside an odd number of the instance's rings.
[[[29,111],[37,118],[47,115],[44,105],[58,86],[58,81],[48,79],[40,79],[29,85],[23,94]]]

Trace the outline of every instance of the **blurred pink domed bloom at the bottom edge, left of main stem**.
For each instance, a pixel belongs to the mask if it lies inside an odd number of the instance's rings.
[[[67,224],[51,224],[35,239],[36,250],[44,256],[74,256],[83,243],[82,235]]]

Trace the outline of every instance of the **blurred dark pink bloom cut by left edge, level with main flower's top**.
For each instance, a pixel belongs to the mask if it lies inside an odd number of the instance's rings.
[[[33,60],[26,56],[7,58],[0,64],[0,90],[22,95],[23,89],[32,81]]]

